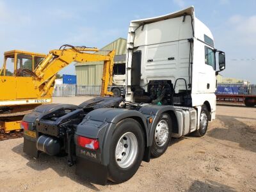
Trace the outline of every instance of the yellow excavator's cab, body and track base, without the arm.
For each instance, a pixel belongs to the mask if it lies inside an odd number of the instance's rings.
[[[0,68],[0,132],[19,130],[22,116],[38,106],[29,100],[38,97],[31,74],[45,56],[19,50],[4,52]],[[24,69],[30,73],[23,73]]]

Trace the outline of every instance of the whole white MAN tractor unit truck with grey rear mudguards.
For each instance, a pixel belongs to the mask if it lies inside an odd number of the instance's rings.
[[[216,68],[218,58],[218,70]],[[225,53],[193,6],[132,20],[125,100],[96,97],[79,106],[47,104],[24,116],[24,152],[66,154],[76,173],[106,184],[128,180],[141,161],[164,154],[172,138],[204,136],[216,114],[216,74]]]

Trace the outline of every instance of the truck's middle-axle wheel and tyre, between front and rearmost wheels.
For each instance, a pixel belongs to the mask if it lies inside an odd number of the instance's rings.
[[[172,118],[163,113],[154,130],[154,138],[151,147],[151,156],[160,157],[166,151],[172,138]]]

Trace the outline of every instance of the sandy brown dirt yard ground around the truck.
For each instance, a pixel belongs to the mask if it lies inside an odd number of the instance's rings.
[[[22,138],[0,142],[0,191],[256,191],[256,108],[218,106],[203,138],[173,139],[163,156],[141,163],[122,184],[93,184],[65,157],[31,159],[22,147]]]

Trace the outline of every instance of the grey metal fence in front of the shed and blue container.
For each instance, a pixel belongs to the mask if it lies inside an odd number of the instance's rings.
[[[77,86],[76,84],[56,84],[53,97],[74,97],[76,95],[100,95],[101,86]]]

